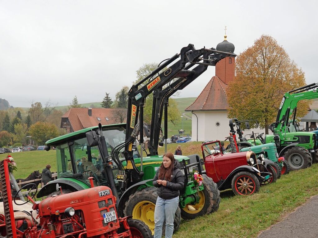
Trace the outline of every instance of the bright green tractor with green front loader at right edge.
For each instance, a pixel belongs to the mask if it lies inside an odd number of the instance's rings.
[[[318,97],[318,83],[312,83],[304,87],[294,89],[285,93],[280,103],[276,122],[270,125],[273,135],[259,134],[247,141],[256,144],[274,142],[277,146],[279,156],[287,160],[290,170],[304,169],[317,163],[317,134],[313,132],[296,131],[291,132],[290,127],[297,128],[296,111],[297,103],[305,99],[314,99]],[[292,121],[290,122],[290,118]]]

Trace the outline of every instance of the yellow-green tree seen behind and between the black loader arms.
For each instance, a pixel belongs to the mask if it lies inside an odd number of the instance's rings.
[[[147,63],[142,65],[136,73],[137,73],[137,80],[133,82],[133,84],[139,83],[142,79],[147,77],[152,71],[154,71],[158,67],[157,63]],[[165,70],[165,69],[163,69]],[[162,70],[162,71],[163,71]],[[160,72],[161,73],[161,72]],[[157,77],[156,75],[155,77]],[[142,83],[139,87],[149,83],[148,80]],[[143,109],[143,116],[144,122],[150,123],[151,122],[151,115],[152,115],[152,102],[153,102],[153,94],[149,94],[146,98],[145,108]],[[172,124],[176,125],[176,122],[180,120],[180,111],[177,107],[176,100],[173,98],[169,98],[169,107],[168,107],[168,121],[172,122]]]

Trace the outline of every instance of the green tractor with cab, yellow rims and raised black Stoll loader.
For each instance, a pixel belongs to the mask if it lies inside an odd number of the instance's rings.
[[[89,188],[88,180],[92,176],[97,185],[112,189],[117,197],[117,212],[120,215],[131,215],[144,221],[153,232],[157,193],[152,180],[162,163],[158,145],[163,110],[164,139],[167,139],[169,97],[200,76],[209,65],[215,66],[227,56],[235,57],[232,53],[214,48],[196,50],[189,44],[181,49],[180,54],[164,61],[149,76],[132,86],[128,92],[126,124],[99,124],[98,127],[82,129],[47,141],[48,146],[56,147],[58,179],[45,185],[37,196],[58,193],[57,184],[63,193]],[[154,101],[149,129],[143,123],[143,107],[150,93],[153,93]],[[144,134],[150,137],[149,151],[143,147]],[[137,141],[140,150],[137,149]],[[181,217],[194,219],[217,211],[220,192],[206,175],[202,175],[204,181],[201,186],[195,186],[194,181],[191,181],[194,167],[202,174],[198,156],[179,155],[175,158],[180,162],[185,177],[174,221],[174,229],[177,230]]]

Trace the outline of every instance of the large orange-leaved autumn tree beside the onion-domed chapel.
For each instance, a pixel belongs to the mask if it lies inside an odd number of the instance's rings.
[[[272,36],[262,35],[239,56],[236,75],[226,90],[228,117],[258,120],[268,134],[284,93],[306,85],[303,71]],[[297,116],[306,114],[308,101],[298,103]]]

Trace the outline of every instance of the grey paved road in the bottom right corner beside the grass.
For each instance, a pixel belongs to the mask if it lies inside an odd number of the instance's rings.
[[[257,238],[318,238],[318,195]]]

